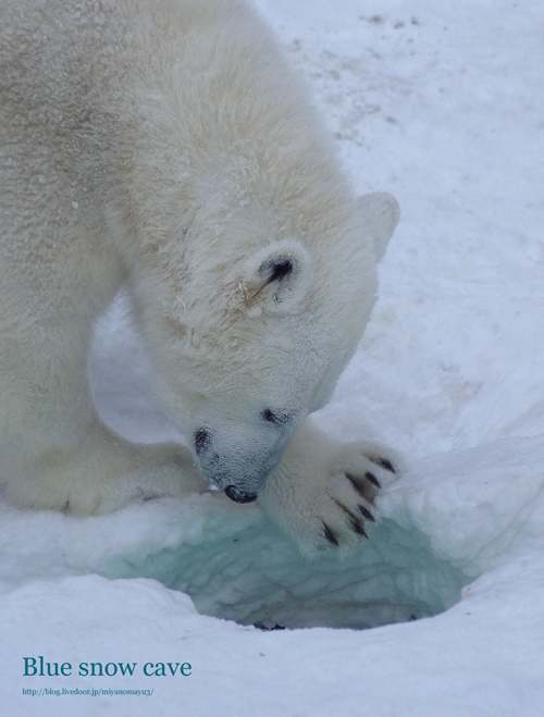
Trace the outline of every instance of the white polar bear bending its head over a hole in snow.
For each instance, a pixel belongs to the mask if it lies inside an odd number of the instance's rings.
[[[357,200],[306,89],[238,0],[3,0],[0,461],[17,506],[210,490],[302,546],[366,535],[394,471],[308,415],[361,337],[398,220]],[[191,448],[132,444],[87,382],[120,286]]]

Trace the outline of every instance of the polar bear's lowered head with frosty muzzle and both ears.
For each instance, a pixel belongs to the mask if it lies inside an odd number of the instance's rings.
[[[374,194],[329,221],[271,227],[243,202],[214,223],[209,205],[184,231],[183,257],[162,252],[145,292],[161,307],[149,313],[144,299],[141,318],[166,412],[208,480],[248,503],[353,356],[398,206]]]

